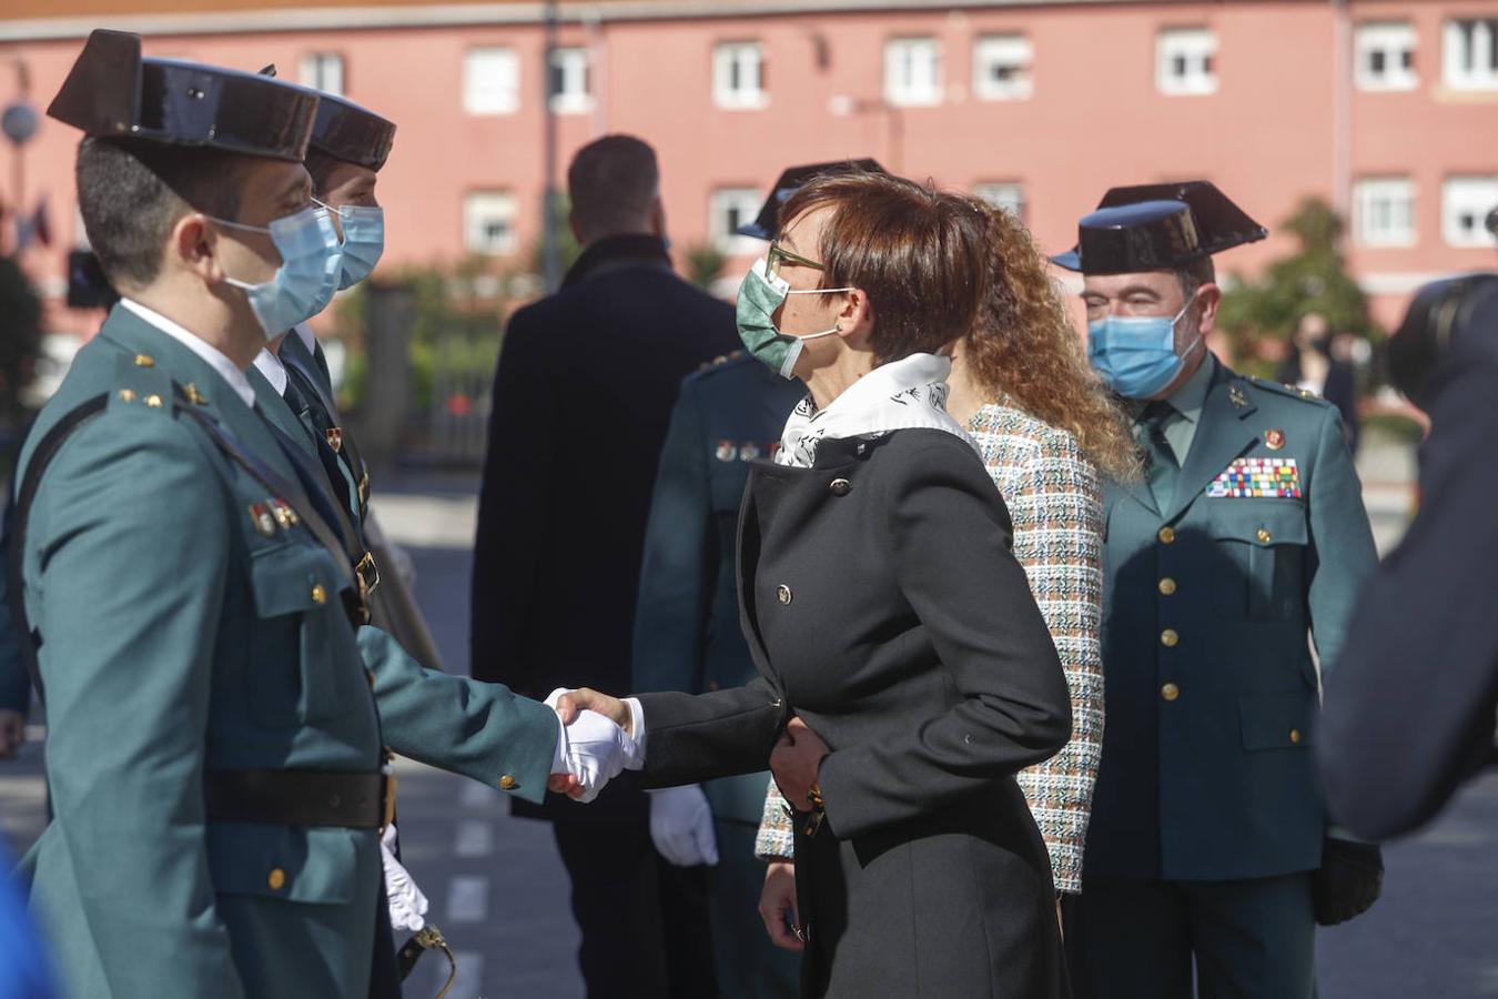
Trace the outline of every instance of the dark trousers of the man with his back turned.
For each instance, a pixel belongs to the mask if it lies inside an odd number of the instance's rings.
[[[715,999],[704,867],[674,867],[644,821],[553,822],[572,878],[589,999]]]

